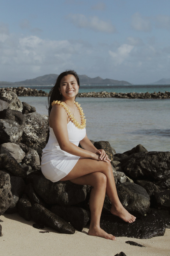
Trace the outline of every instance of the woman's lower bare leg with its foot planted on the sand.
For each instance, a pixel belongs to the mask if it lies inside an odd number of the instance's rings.
[[[70,181],[79,185],[92,186],[89,201],[91,221],[88,234],[91,236],[100,236],[106,239],[116,240],[115,236],[107,234],[103,229],[100,228],[100,216],[106,194],[106,175],[101,172],[93,172]]]

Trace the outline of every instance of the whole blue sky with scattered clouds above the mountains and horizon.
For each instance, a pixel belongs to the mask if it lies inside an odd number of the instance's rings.
[[[0,56],[0,81],[66,69],[133,84],[170,78],[170,1],[1,1]]]

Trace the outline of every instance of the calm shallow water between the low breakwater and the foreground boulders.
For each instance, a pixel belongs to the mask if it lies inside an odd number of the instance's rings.
[[[103,91],[108,91],[106,86],[104,88]],[[162,88],[163,92],[170,91],[170,86]],[[162,91],[160,88],[158,90]],[[129,91],[123,88],[119,92]],[[48,115],[46,97],[19,99],[34,106],[38,113]],[[170,151],[170,100],[77,98],[77,101],[84,110],[90,140],[107,140],[116,153],[123,153],[138,144],[148,151]]]

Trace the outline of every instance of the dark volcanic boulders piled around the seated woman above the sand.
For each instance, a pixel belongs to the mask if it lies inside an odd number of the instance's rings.
[[[90,220],[91,187],[70,181],[53,183],[41,173],[47,117],[6,91],[0,92],[0,118],[0,215],[18,212],[61,233],[82,231]],[[148,152],[137,145],[116,154],[107,141],[93,143],[106,150],[120,201],[137,216],[129,224],[111,215],[106,196],[101,227],[115,236],[163,236],[165,228],[170,228],[170,152]]]

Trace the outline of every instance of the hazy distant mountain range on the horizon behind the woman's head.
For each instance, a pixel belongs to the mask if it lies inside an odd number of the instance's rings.
[[[38,76],[33,79],[26,79],[25,81],[20,82],[0,82],[0,86],[25,86],[25,85],[51,85],[55,84],[56,78],[58,75],[56,74],[49,74],[44,76]],[[90,78],[86,75],[78,75],[80,84],[113,84],[113,85],[131,85],[126,81],[118,81],[113,79],[102,79],[100,76],[95,78]]]

